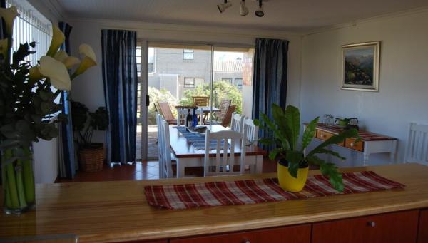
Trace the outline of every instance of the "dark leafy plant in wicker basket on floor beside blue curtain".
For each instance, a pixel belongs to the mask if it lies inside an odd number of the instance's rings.
[[[100,107],[91,113],[82,103],[72,101],[71,112],[73,118],[73,131],[78,143],[78,158],[81,170],[96,172],[103,169],[104,144],[93,143],[94,130],[108,128],[108,112]]]

